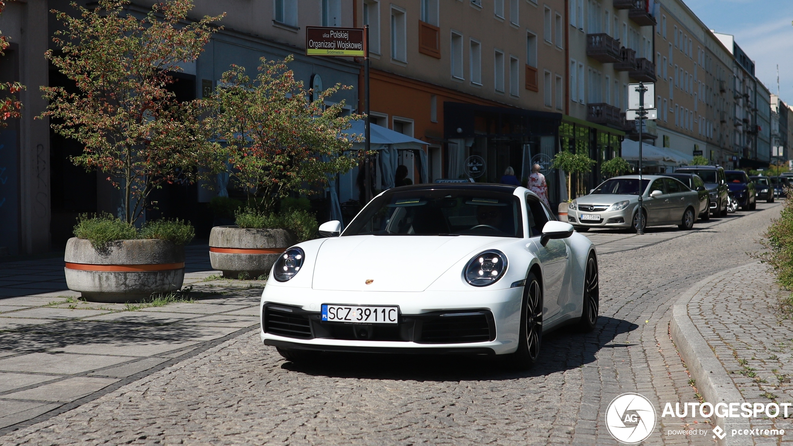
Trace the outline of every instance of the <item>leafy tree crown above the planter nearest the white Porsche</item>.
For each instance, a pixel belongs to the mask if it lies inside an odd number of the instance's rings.
[[[252,80],[244,67],[232,65],[213,97],[229,174],[246,191],[248,208],[262,215],[289,193],[311,193],[312,184],[357,163],[353,139],[341,132],[362,116],[343,116],[344,101],[325,105],[328,97],[352,87],[337,84],[309,101],[303,82],[287,67],[292,60],[262,58]]]

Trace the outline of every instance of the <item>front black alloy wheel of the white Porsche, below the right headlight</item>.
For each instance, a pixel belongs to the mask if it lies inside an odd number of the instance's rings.
[[[537,362],[542,344],[542,286],[534,273],[529,273],[523,288],[518,349],[511,354],[512,365],[527,370]]]

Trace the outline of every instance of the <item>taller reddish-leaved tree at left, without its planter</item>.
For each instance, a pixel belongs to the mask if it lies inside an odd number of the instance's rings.
[[[205,101],[177,101],[167,87],[169,72],[198,57],[211,22],[223,16],[186,24],[192,2],[169,0],[139,18],[125,11],[128,3],[100,0],[91,10],[72,3],[79,17],[53,10],[64,29],[53,38],[59,51],[45,55],[78,91],[41,90],[49,101],[42,117],[56,118],[56,133],[84,145],[71,161],[124,188],[124,219],[134,223],[152,190],[193,181],[199,164],[212,170]]]

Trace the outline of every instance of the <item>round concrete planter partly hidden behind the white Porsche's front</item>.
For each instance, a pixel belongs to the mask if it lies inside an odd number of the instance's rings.
[[[247,273],[255,279],[270,274],[278,255],[296,242],[292,231],[285,229],[216,226],[209,233],[209,260],[224,277],[237,279]]]

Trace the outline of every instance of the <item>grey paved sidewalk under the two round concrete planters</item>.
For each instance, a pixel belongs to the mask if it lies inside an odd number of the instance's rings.
[[[189,268],[209,269],[205,246],[202,252],[201,246],[188,248]],[[79,293],[65,290],[63,259],[8,265],[0,264],[0,280],[6,281],[0,291],[17,297],[0,297],[0,434],[70,410],[259,324],[264,281],[187,273],[192,302],[128,306],[77,299]],[[19,295],[24,292],[29,295]]]

